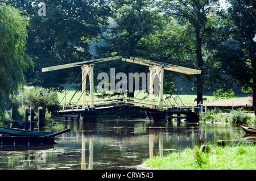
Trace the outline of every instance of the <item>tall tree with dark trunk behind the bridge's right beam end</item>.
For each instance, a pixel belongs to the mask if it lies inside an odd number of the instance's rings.
[[[209,90],[209,87],[216,83],[216,79],[220,78],[219,71],[216,71],[217,66],[209,56],[211,52],[207,48],[209,41],[213,40],[216,28],[213,16],[209,15],[210,3],[217,1],[163,0],[158,3],[166,21],[163,30],[158,33],[160,39],[155,40],[161,42],[159,47],[162,52],[159,53],[166,61],[202,70],[201,74],[195,77],[183,76],[184,79],[193,81],[197,103],[203,102],[203,91]]]

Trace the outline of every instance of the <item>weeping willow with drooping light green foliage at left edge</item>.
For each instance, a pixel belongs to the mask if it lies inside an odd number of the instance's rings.
[[[23,71],[32,66],[25,52],[29,19],[22,13],[0,0],[0,116],[10,96],[23,87]]]

